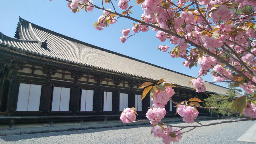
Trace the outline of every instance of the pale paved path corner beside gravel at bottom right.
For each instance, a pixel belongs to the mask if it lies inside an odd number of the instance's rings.
[[[256,122],[237,141],[256,143]]]

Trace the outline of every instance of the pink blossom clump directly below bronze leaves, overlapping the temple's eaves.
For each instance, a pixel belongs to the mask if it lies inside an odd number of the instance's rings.
[[[164,108],[170,98],[174,95],[174,89],[172,87],[166,87],[166,92],[156,90],[153,101],[153,108]]]

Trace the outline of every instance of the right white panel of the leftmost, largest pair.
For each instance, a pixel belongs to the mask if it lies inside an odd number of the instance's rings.
[[[28,100],[28,111],[39,111],[42,85],[31,85]]]

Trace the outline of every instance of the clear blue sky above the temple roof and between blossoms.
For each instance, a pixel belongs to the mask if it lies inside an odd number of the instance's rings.
[[[94,4],[99,6],[101,6],[100,2],[100,0],[94,0]],[[118,1],[113,1],[113,3],[117,12],[121,13],[121,9],[117,6]],[[81,10],[80,13],[74,14],[67,8],[67,1],[65,0],[53,0],[51,2],[48,0],[1,1],[1,6],[0,32],[4,35],[14,37],[20,16],[31,23],[77,40],[189,76],[198,76],[199,66],[189,69],[181,65],[184,59],[172,58],[169,53],[159,51],[159,45],[168,45],[170,48],[175,45],[170,44],[168,41],[159,42],[155,37],[156,32],[152,30],[137,33],[128,38],[125,43],[121,43],[119,40],[123,36],[121,30],[131,29],[133,26],[131,20],[119,18],[117,23],[98,31],[93,27],[93,24],[103,14],[102,10],[94,8],[93,12],[86,13]],[[135,3],[130,1],[129,6],[135,6]],[[104,7],[113,10],[111,5],[104,4]],[[131,11],[133,13],[131,16],[137,19],[143,14],[140,5],[131,8]],[[213,81],[211,76],[205,76],[204,79]],[[227,87],[225,83],[216,84]]]

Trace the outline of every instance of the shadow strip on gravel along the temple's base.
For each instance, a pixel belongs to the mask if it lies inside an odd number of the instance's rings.
[[[209,121],[209,120],[198,120],[198,121]],[[167,124],[183,124],[185,122],[168,122]],[[195,123],[197,125],[197,123]],[[121,130],[121,129],[131,129],[131,128],[141,128],[141,127],[151,127],[151,124],[144,125],[135,125],[135,126],[121,126],[113,128],[96,128],[96,129],[87,129],[87,130],[73,130],[73,131],[63,131],[63,132],[48,132],[48,133],[38,133],[38,134],[25,134],[25,135],[13,135],[13,136],[0,136],[5,142],[14,142],[24,139],[35,139],[42,137],[52,137],[52,136],[64,136],[64,135],[73,135],[73,134],[86,134],[94,132],[104,132],[108,130]]]

